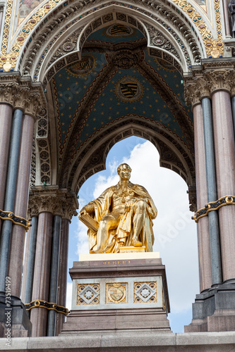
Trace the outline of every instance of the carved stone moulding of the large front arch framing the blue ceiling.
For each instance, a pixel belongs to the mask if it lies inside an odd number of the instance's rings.
[[[135,16],[139,14],[140,18],[142,18],[143,15],[146,16],[146,12],[148,15],[150,15],[151,13],[152,20],[156,20],[157,23],[165,27],[167,32],[174,36],[174,39],[179,44],[179,48],[172,47],[170,50],[174,50],[176,52],[177,50],[181,51],[181,53],[186,58],[187,65],[191,65],[192,58],[192,64],[200,62],[202,51],[200,49],[200,46],[198,45],[198,40],[195,33],[192,32],[191,27],[188,25],[188,15],[191,16],[190,12],[188,12],[186,16],[183,14],[183,12],[181,12],[180,15],[177,15],[175,11],[172,11],[171,7],[168,6],[169,4],[157,4],[157,2],[147,0],[135,0],[134,2],[135,4],[131,5],[131,9],[135,11]],[[89,16],[91,12],[93,12],[93,9],[91,9],[92,6],[95,6],[95,13],[99,13],[100,11],[102,11],[102,15],[92,21],[90,21],[90,19],[85,20],[85,18]],[[52,13],[48,13],[48,11],[43,11],[43,13],[40,13],[40,18],[38,16],[36,16],[35,18],[35,15],[32,15],[31,20],[34,24],[30,25],[30,27],[25,24],[22,31],[20,32],[20,36],[23,40],[20,39],[20,42],[16,41],[17,43],[13,44],[13,47],[11,48],[14,50],[11,50],[11,54],[8,54],[8,59],[11,61],[11,63],[9,61],[9,67],[15,67],[18,54],[20,54],[19,68],[20,70],[22,70],[23,75],[32,75],[32,79],[37,81],[39,80],[39,77],[41,75],[44,60],[46,60],[46,58],[48,59],[48,56],[51,56],[49,65],[52,65],[52,61],[54,62],[61,56],[64,56],[66,52],[73,50],[76,51],[76,46],[74,47],[75,43],[73,42],[73,39],[71,39],[71,36],[73,36],[73,34],[71,33],[75,32],[73,30],[75,26],[76,31],[83,31],[82,35],[80,35],[79,37],[79,50],[81,51],[83,44],[85,43],[90,33],[95,30],[98,30],[100,27],[104,27],[104,25],[108,25],[109,22],[115,20],[115,16],[117,20],[125,21],[126,23],[130,23],[132,26],[137,27],[138,30],[143,32],[146,37],[145,29],[143,28],[143,25],[138,21],[138,19],[136,17],[131,17],[131,15],[126,15],[126,8],[130,8],[129,4],[124,4],[120,2],[120,12],[116,13],[116,15],[114,15],[113,12],[107,13],[107,8],[109,8],[109,6],[112,6],[112,1],[109,1],[105,4],[104,1],[101,0],[88,0],[84,1],[84,4],[81,1],[72,1],[71,4],[66,4],[66,8],[61,7],[60,10],[54,13],[53,15]],[[184,11],[185,5],[182,3],[181,6],[183,6]],[[81,8],[83,8],[82,12]],[[87,11],[85,11],[85,8],[87,9]],[[193,11],[195,11],[194,8]],[[43,21],[42,17],[44,17]],[[81,20],[83,20],[83,23],[85,20],[85,23],[89,23],[89,25],[85,28],[84,25],[81,25],[81,27],[78,28],[79,22]],[[36,32],[35,25],[37,25],[39,21],[41,21],[41,23],[40,26],[37,26]],[[200,29],[200,32],[203,31],[203,33],[205,34],[205,28],[207,26],[205,25],[205,23],[203,23],[202,18],[200,19],[200,21],[197,18],[197,22],[195,22],[195,25],[200,25],[200,28],[203,28]],[[149,27],[151,27],[151,25]],[[64,34],[66,32],[68,33],[67,39],[64,39]],[[28,37],[30,35],[34,37],[33,40],[28,40]],[[61,40],[62,36],[63,39]],[[208,38],[210,37],[211,41],[212,34],[208,30],[207,36]],[[209,40],[208,38],[206,39],[206,41]],[[28,41],[26,44],[26,52],[16,51],[16,48],[17,50],[19,50],[21,45],[26,40]],[[61,42],[63,42],[62,45]],[[188,49],[186,48],[186,43],[188,44]],[[55,46],[56,50],[54,49]],[[58,47],[59,49],[57,50]],[[210,50],[210,48],[208,47],[207,50]],[[35,58],[37,58],[36,65]]]

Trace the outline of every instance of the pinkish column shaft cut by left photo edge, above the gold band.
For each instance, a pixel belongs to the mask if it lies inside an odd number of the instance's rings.
[[[8,164],[8,149],[11,135],[12,108],[7,104],[0,104],[0,209],[4,208],[4,194],[6,185],[6,170]],[[1,220],[0,220],[1,232]]]

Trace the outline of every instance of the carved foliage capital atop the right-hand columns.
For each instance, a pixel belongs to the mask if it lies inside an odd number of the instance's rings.
[[[231,96],[235,94],[235,61],[206,59],[184,77],[187,105],[194,106],[219,90],[226,90]]]

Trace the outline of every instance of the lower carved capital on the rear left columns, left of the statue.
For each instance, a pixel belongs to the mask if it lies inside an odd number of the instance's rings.
[[[56,186],[37,186],[30,189],[28,203],[28,218],[37,216],[42,212],[60,215],[61,218],[71,220],[73,215],[78,215],[78,199],[76,194],[67,189]]]

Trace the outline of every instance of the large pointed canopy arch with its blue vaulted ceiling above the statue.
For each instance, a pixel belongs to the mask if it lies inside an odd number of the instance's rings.
[[[104,168],[107,146],[131,131],[151,136],[161,165],[195,192],[182,75],[205,56],[203,43],[172,4],[81,4],[49,11],[18,62],[22,75],[42,81],[49,101],[37,122],[35,184],[77,194]]]

